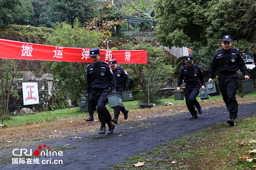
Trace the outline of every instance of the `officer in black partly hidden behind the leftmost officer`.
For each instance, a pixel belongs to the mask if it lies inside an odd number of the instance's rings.
[[[122,96],[122,92],[124,91],[124,80],[125,80],[125,91],[129,91],[130,78],[126,70],[123,67],[118,66],[118,64],[116,63],[116,59],[109,60],[109,63],[116,80],[116,93]],[[125,120],[128,118],[129,110],[122,107],[122,108],[114,109],[115,117],[111,120],[112,122],[117,124],[117,119],[120,114],[120,111],[124,114]]]

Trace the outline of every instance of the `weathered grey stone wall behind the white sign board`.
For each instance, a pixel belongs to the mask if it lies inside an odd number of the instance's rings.
[[[23,93],[22,82],[37,82],[39,104],[23,105]],[[15,99],[10,96],[8,109],[14,114],[18,113],[21,108],[27,107],[33,111],[48,110],[49,104],[51,104],[52,92],[58,90],[57,82],[53,81],[52,74],[44,74],[42,78],[36,78],[35,73],[25,73],[23,78],[16,79],[16,82],[12,84],[13,89],[18,89],[19,99]]]

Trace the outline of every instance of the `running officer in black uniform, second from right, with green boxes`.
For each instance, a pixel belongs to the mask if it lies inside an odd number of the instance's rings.
[[[200,69],[199,65],[193,64],[194,57],[192,55],[186,56],[186,65],[181,67],[180,75],[177,81],[177,90],[180,91],[180,85],[184,78],[185,85],[185,98],[186,98],[186,105],[188,107],[188,111],[192,115],[190,119],[196,119],[197,111],[198,114],[202,114],[202,106],[196,100],[196,96],[199,94],[200,89],[200,82],[202,84],[202,89],[205,89],[205,78],[202,70]]]

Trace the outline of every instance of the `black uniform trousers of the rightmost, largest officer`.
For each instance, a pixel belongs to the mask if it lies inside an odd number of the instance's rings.
[[[239,87],[238,75],[236,73],[231,75],[224,75],[219,73],[218,75],[220,91],[222,93],[223,100],[228,108],[229,113],[237,113],[238,103],[236,101],[236,90]]]

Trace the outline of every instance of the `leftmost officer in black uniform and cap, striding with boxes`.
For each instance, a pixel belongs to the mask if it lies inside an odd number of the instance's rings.
[[[108,65],[107,62],[100,60],[99,48],[92,48],[90,50],[90,56],[92,63],[87,66],[85,97],[87,99],[90,97],[90,91],[92,89],[92,96],[94,97],[99,120],[101,122],[99,134],[106,133],[106,123],[109,128],[108,134],[112,134],[115,125],[111,122],[111,115],[106,108],[106,103],[108,102],[107,96],[109,95],[109,92],[111,94],[116,93],[116,81],[110,65]]]

